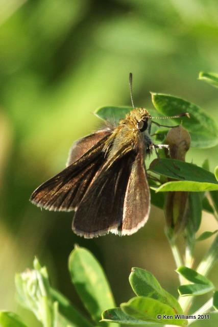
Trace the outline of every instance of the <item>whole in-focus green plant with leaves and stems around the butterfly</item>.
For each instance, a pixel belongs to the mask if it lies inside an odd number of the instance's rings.
[[[199,78],[218,87],[216,74],[200,73]],[[171,158],[160,151],[160,159],[152,162],[148,169],[152,177],[152,203],[165,211],[165,233],[180,279],[179,298],[176,299],[165,291],[150,272],[132,268],[129,281],[136,296],[115,308],[102,267],[88,250],[76,246],[69,256],[69,272],[71,281],[90,314],[90,321],[50,286],[46,268],[41,267],[37,259],[34,260],[33,270],[16,275],[20,304],[33,311],[45,327],[112,327],[114,322],[141,326],[186,326],[196,319],[207,319],[208,313],[218,310],[218,292],[206,277],[218,257],[218,236],[215,236],[197,269],[192,269],[196,242],[208,239],[217,232],[204,231],[200,237],[196,237],[202,210],[218,220],[218,168],[212,174],[207,160],[202,168],[184,161],[189,146],[210,148],[217,145],[218,129],[210,116],[195,104],[163,94],[152,94],[152,100],[160,114],[171,116],[188,112],[190,115],[190,119],[185,120],[182,127],[177,129],[169,132],[159,127],[154,129],[156,140],[164,140],[171,148]],[[129,107],[103,107],[96,114],[104,120],[117,121],[129,111]],[[155,116],[154,110],[150,112]],[[167,121],[167,125],[174,123],[175,120]],[[184,260],[177,245],[178,235],[184,237],[186,244]],[[189,315],[192,299],[205,293],[211,293],[210,299]],[[0,323],[4,327],[25,326],[16,314],[6,311],[0,312]]]

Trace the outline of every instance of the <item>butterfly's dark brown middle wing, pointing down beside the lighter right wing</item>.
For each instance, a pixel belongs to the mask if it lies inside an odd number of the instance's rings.
[[[125,192],[135,156],[132,150],[106,161],[75,213],[72,229],[77,235],[92,238],[109,231],[119,233]]]

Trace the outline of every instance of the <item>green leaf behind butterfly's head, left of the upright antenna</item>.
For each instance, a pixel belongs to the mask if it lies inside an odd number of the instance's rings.
[[[131,110],[132,107],[107,106],[96,109],[94,114],[105,121],[118,124],[119,120],[124,119]]]

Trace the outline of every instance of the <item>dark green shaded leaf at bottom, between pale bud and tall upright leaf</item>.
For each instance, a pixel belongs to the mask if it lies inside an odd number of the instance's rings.
[[[70,301],[60,292],[51,288],[53,301],[58,302],[58,311],[62,316],[70,321],[74,327],[93,327],[77,309],[75,309]]]

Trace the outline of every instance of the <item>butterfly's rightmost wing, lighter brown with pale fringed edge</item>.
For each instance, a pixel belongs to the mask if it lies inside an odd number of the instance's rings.
[[[144,168],[144,157],[139,152],[132,165],[124,200],[122,235],[131,235],[144,226],[150,213],[150,190]]]

